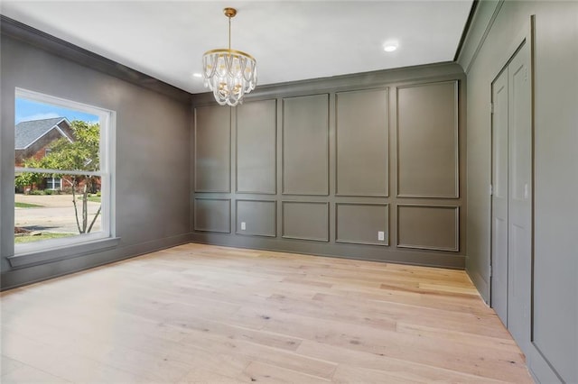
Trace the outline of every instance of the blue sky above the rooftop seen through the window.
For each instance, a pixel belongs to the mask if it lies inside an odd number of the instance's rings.
[[[95,114],[86,114],[73,109],[16,97],[15,123],[50,119],[52,117],[66,117],[70,122],[72,120],[82,120],[88,123],[98,123],[98,116]]]

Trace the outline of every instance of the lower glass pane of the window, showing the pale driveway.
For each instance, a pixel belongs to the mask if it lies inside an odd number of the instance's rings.
[[[25,173],[25,172],[23,172]],[[22,176],[20,173],[17,176]],[[52,178],[42,178],[51,180]],[[101,178],[58,174],[55,183],[14,196],[14,242],[38,242],[102,230]],[[61,189],[51,188],[61,182]],[[74,187],[74,193],[72,186]]]

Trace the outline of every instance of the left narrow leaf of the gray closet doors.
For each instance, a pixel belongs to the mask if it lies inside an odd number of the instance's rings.
[[[508,325],[508,69],[492,84],[491,306]]]

